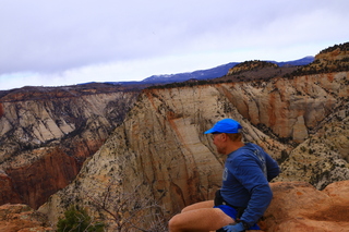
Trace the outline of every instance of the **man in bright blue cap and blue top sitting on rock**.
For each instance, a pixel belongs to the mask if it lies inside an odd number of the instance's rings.
[[[261,230],[256,222],[273,198],[268,182],[280,171],[260,146],[242,142],[241,129],[239,122],[224,119],[205,132],[227,156],[222,186],[215,200],[193,204],[171,218],[170,232]]]

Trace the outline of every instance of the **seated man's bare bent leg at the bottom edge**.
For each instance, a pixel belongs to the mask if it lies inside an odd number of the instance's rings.
[[[203,206],[204,204],[200,205]],[[233,219],[218,208],[197,208],[192,210],[184,210],[183,212],[171,218],[171,220],[169,221],[169,231],[208,232],[218,230],[219,228],[222,228],[232,222]]]

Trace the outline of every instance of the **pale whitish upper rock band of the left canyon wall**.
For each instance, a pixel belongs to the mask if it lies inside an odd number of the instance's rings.
[[[120,121],[108,122],[108,105],[120,102],[132,105],[134,93],[86,95],[70,98],[14,100],[0,102],[0,139],[7,146],[0,147],[0,161],[9,154],[20,151],[23,146],[41,146],[52,139],[60,139],[87,119],[100,121],[107,127],[116,126]],[[115,103],[117,107],[117,103]],[[115,108],[113,110],[120,110]],[[117,112],[111,112],[118,117]],[[122,108],[120,114],[125,113]],[[123,118],[123,117],[121,117]]]

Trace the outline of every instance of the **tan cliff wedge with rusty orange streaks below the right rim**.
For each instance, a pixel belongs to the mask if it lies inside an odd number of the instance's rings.
[[[242,117],[280,138],[303,142],[309,131],[349,95],[348,73],[316,74],[217,87]]]

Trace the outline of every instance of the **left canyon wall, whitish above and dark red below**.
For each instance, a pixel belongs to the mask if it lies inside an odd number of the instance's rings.
[[[87,94],[45,89],[20,89],[0,99],[0,205],[37,208],[67,186],[139,94],[117,87]]]

